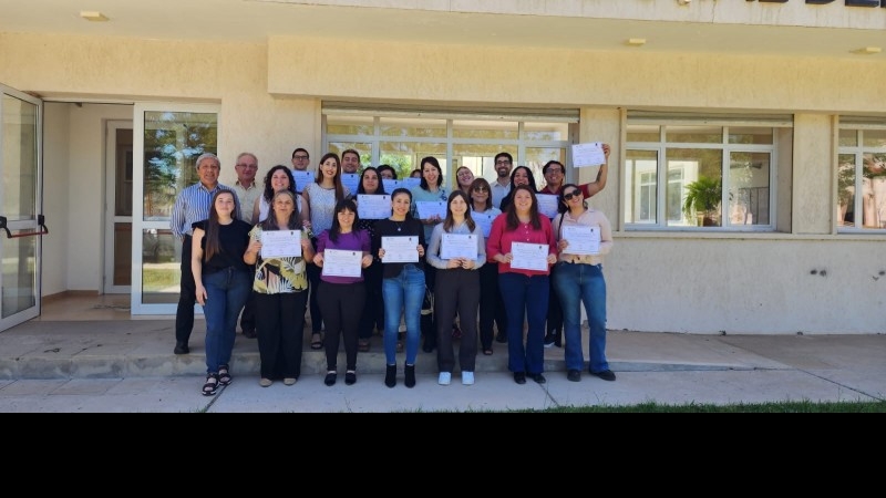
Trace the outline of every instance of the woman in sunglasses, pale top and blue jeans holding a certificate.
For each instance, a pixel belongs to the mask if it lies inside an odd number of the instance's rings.
[[[604,381],[616,374],[606,361],[606,280],[602,257],[612,249],[612,229],[602,211],[589,209],[581,188],[567,184],[560,190],[560,214],[554,231],[560,256],[554,288],[563,307],[566,336],[566,378],[581,381],[581,304],[588,315],[588,371]]]

